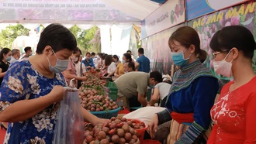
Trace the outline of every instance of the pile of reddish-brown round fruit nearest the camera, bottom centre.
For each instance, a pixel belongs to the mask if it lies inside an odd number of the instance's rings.
[[[144,129],[144,122],[136,123],[135,120],[126,118],[111,118],[106,125],[85,124],[84,144],[137,144],[140,143],[136,129]]]

